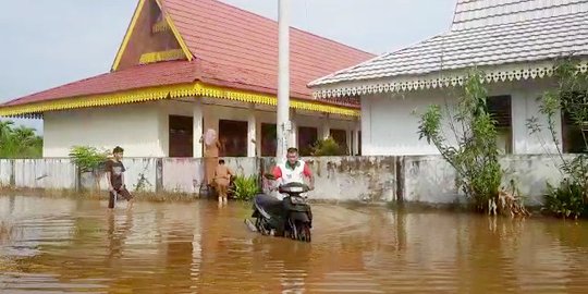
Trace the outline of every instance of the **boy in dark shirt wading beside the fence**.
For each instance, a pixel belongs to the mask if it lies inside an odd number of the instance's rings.
[[[117,146],[112,150],[113,158],[108,160],[106,163],[106,176],[108,181],[108,191],[110,198],[108,201],[108,208],[114,208],[114,203],[117,201],[117,196],[122,196],[128,201],[128,209],[133,207],[133,196],[126,189],[124,184],[124,164],[122,163],[123,148]]]

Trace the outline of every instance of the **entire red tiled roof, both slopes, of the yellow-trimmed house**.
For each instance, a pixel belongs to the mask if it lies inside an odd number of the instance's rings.
[[[204,83],[275,94],[278,23],[217,0],[164,0],[163,10],[195,59],[168,61],[98,75],[2,106],[106,94],[149,86]],[[291,95],[311,99],[306,85],[373,56],[291,28]]]

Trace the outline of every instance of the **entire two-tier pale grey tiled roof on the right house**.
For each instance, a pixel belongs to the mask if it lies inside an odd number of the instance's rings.
[[[311,86],[588,54],[588,0],[460,0],[452,29]]]

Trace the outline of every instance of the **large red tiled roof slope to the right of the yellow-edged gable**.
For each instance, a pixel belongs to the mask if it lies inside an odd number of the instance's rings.
[[[278,89],[278,23],[217,0],[161,2],[180,35],[208,74],[220,83]],[[348,46],[290,29],[290,78],[293,97],[310,98],[310,81],[373,58]],[[237,83],[238,84],[238,83]]]

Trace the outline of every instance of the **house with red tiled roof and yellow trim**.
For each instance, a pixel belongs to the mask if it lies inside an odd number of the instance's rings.
[[[373,56],[295,28],[290,36],[291,145],[308,154],[332,136],[357,146],[358,101],[316,100],[306,85]],[[11,100],[0,117],[42,119],[44,157],[74,145],[201,157],[208,128],[223,156],[274,156],[277,85],[277,22],[216,0],[139,0],[109,73]]]

